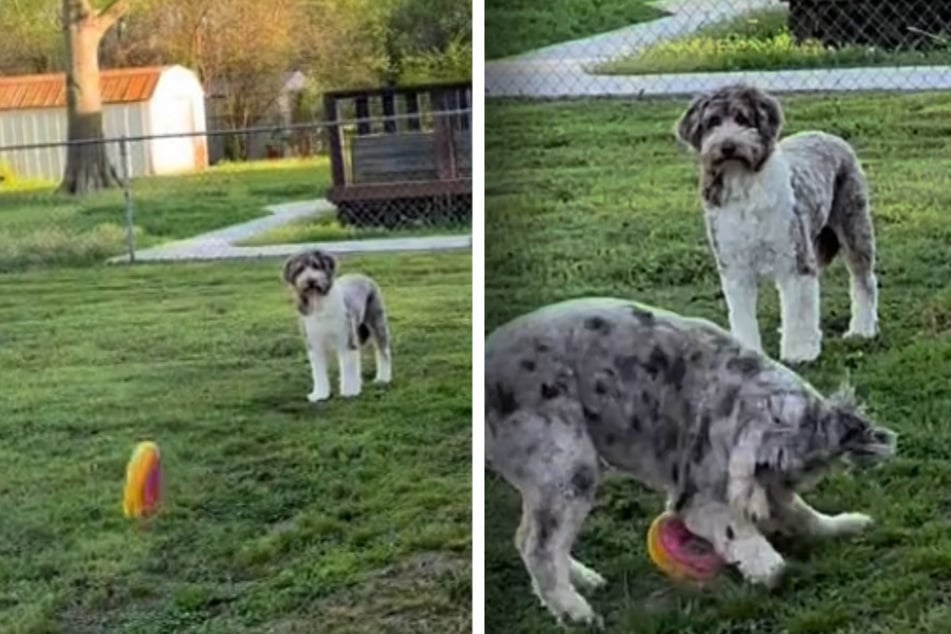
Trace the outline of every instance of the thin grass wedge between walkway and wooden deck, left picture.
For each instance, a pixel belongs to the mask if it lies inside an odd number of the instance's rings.
[[[445,223],[418,227],[364,228],[341,224],[335,215],[319,216],[286,224],[270,231],[258,234],[239,244],[255,246],[265,244],[293,244],[300,242],[323,242],[335,240],[365,240],[368,238],[403,238],[409,236],[435,236],[453,233],[469,233],[471,225],[463,223]]]

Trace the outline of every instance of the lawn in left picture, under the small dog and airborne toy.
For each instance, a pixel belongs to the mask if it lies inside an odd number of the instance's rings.
[[[471,258],[342,264],[386,290],[395,381],[319,406],[279,262],[0,275],[3,632],[470,631]]]

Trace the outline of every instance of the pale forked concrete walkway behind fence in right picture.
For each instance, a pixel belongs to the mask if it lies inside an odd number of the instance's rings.
[[[808,69],[662,75],[593,75],[594,65],[689,35],[704,26],[778,0],[673,0],[659,4],[672,15],[487,62],[487,97],[686,96],[745,81],[772,92],[918,91],[951,89],[951,66]]]

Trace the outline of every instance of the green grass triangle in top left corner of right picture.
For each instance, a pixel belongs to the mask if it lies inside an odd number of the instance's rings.
[[[498,59],[667,15],[653,0],[489,0],[485,55]]]

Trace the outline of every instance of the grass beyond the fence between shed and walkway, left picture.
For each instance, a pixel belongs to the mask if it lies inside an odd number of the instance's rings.
[[[133,183],[136,243],[153,246],[263,215],[265,205],[324,195],[326,159],[262,161]],[[86,198],[54,186],[0,187],[0,271],[102,262],[125,250],[122,192]]]

